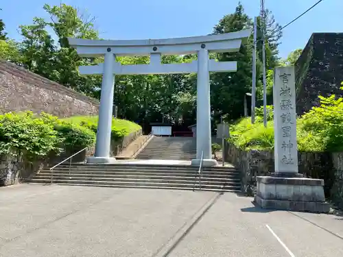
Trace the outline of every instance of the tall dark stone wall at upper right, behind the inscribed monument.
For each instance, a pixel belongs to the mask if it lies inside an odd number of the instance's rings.
[[[319,105],[318,95],[342,95],[343,33],[314,33],[296,61],[296,113]]]

